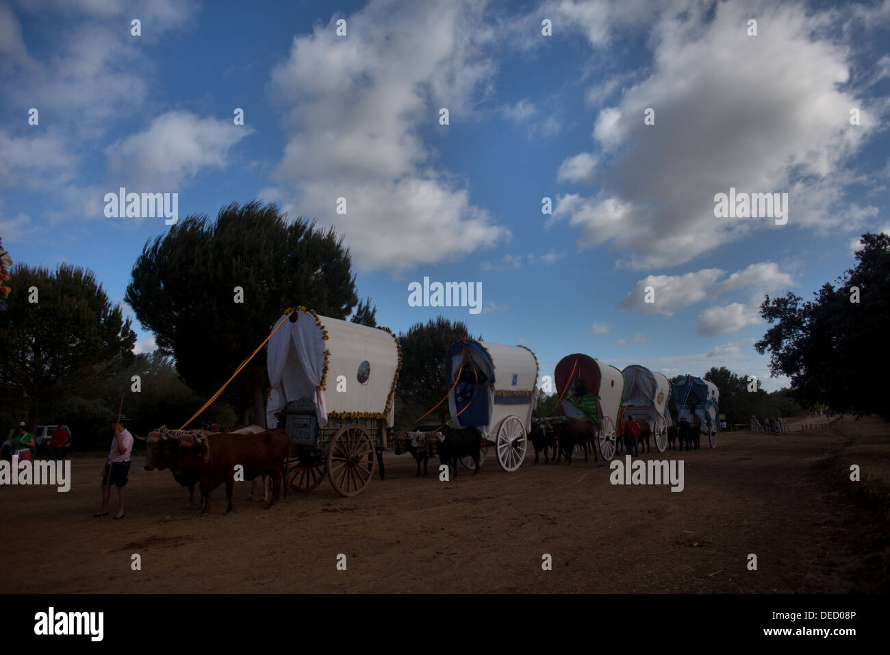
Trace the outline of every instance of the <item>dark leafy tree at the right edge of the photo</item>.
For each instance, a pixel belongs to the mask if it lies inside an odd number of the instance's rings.
[[[890,364],[890,236],[865,233],[856,266],[804,302],[766,296],[760,315],[772,327],[755,344],[770,352],[770,372],[787,375],[798,402],[890,419],[884,386]],[[856,287],[859,302],[854,299]]]

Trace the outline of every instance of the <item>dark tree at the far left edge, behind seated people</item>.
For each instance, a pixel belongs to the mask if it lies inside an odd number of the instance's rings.
[[[53,399],[91,387],[133,361],[136,334],[95,274],[18,265],[9,308],[0,312],[0,404],[36,428]],[[28,302],[36,287],[38,302]]]

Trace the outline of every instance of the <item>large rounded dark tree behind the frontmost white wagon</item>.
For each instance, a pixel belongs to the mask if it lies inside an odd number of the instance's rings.
[[[234,301],[235,287],[243,303]],[[202,397],[229,379],[287,307],[344,319],[358,303],[343,237],[302,218],[288,224],[275,205],[259,201],[232,203],[215,223],[187,217],[147,242],[125,300]],[[264,424],[265,366],[262,353],[255,356],[226,389],[243,421]]]

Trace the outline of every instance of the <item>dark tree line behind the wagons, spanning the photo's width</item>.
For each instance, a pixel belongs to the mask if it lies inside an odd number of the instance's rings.
[[[752,413],[789,415],[799,410],[795,404],[886,412],[878,386],[864,389],[862,380],[887,359],[878,331],[890,298],[888,239],[865,234],[862,241],[858,265],[837,287],[826,284],[809,303],[792,293],[764,301],[761,313],[774,324],[756,348],[771,352],[771,370],[789,375],[790,390],[751,394],[745,376],[724,368],[708,372],[720,389],[727,422],[747,422]],[[108,418],[122,396],[137,433],[158,427],[158,421],[178,427],[263,341],[287,307],[303,305],[376,326],[376,307],[356,292],[344,237],[303,217],[288,221],[274,204],[259,201],[223,207],[214,221],[186,217],[145,243],[125,302],[154,333],[154,353],[134,355],[132,324],[93,272],[70,264],[49,270],[19,263],[8,277],[7,307],[0,311],[0,430],[20,420],[31,430],[38,422],[65,423],[81,448],[107,443]],[[850,286],[858,288],[857,303],[847,296]],[[398,336],[403,363],[396,422],[407,427],[446,393],[442,377],[449,346],[472,335],[465,323],[439,316]],[[137,375],[141,389],[134,393]],[[202,418],[262,424],[268,383],[261,353]],[[542,393],[538,414],[549,411],[548,403],[555,396]],[[442,403],[425,422],[447,418]]]

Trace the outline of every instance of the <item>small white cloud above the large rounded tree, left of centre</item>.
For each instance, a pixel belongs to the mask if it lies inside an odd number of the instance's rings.
[[[106,148],[109,173],[122,185],[129,181],[149,190],[176,189],[205,168],[225,168],[231,146],[250,131],[231,120],[170,111]]]

